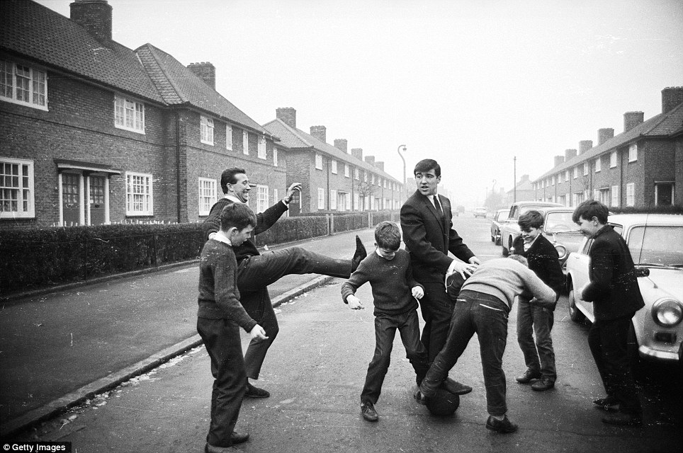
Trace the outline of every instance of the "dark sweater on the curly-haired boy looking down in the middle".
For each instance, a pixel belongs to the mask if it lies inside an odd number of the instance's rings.
[[[412,277],[410,255],[399,249],[392,260],[370,253],[342,285],[342,300],[356,294],[356,289],[370,282],[373,294],[374,314],[402,314],[417,309],[412,288],[422,287]]]

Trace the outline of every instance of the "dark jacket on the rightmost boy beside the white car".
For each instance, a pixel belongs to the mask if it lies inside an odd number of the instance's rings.
[[[588,251],[590,283],[582,299],[593,302],[596,319],[633,316],[645,303],[626,241],[611,225],[603,226],[592,239]]]

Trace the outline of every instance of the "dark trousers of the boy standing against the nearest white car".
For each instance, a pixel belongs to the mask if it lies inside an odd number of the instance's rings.
[[[632,317],[596,319],[588,331],[588,345],[607,396],[619,401],[622,412],[640,414],[640,400],[626,346]]]

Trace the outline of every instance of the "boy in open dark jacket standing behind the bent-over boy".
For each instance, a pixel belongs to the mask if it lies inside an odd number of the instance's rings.
[[[529,211],[519,216],[517,221],[521,236],[512,243],[514,253],[524,256],[543,283],[555,291],[553,304],[541,305],[536,299],[529,300],[521,294],[517,303],[517,343],[524,353],[526,371],[516,378],[520,384],[531,384],[531,389],[544,391],[555,386],[558,375],[555,370],[555,351],[553,350],[553,312],[565,284],[565,275],[560,267],[558,251],[551,241],[543,236],[543,214]],[[536,345],[532,333],[536,333]]]

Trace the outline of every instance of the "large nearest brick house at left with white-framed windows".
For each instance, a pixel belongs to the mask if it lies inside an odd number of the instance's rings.
[[[285,149],[215,91],[212,64],[111,30],[106,0],[71,18],[0,2],[0,229],[196,222],[227,166],[247,168],[254,210],[284,195]]]

